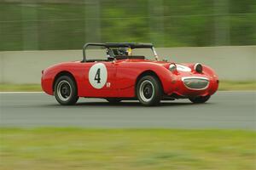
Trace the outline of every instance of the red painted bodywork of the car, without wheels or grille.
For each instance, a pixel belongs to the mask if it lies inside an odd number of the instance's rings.
[[[107,67],[108,79],[100,89],[94,88],[89,81],[89,71],[92,65],[102,63]],[[42,71],[41,84],[45,93],[54,94],[54,82],[58,74],[69,73],[75,79],[79,97],[95,98],[134,98],[136,97],[137,78],[144,72],[150,71],[156,75],[162,85],[163,92],[169,96],[177,94],[183,97],[206,96],[214,94],[218,89],[218,76],[207,65],[203,72],[194,70],[195,64],[179,64],[189,67],[191,71],[170,71],[171,63],[148,59],[119,59],[98,62],[66,62],[50,66]],[[195,90],[187,88],[183,77],[205,77],[209,80],[206,89]]]

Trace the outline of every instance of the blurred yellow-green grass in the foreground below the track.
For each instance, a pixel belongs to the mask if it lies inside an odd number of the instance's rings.
[[[255,169],[256,132],[1,128],[0,169]]]

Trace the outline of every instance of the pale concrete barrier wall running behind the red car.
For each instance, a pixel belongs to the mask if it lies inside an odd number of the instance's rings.
[[[156,50],[161,59],[209,65],[217,71],[221,80],[256,80],[256,46]],[[99,53],[98,50],[90,50],[90,54]],[[41,71],[44,68],[62,61],[80,59],[81,50],[0,52],[0,83],[40,83]]]

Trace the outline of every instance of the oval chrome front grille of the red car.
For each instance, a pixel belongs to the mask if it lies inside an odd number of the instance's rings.
[[[183,77],[182,80],[186,88],[193,90],[203,90],[209,86],[209,80],[206,77]]]

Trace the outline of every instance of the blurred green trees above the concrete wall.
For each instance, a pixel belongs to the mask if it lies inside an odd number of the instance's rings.
[[[0,50],[256,44],[255,0],[0,0]]]

